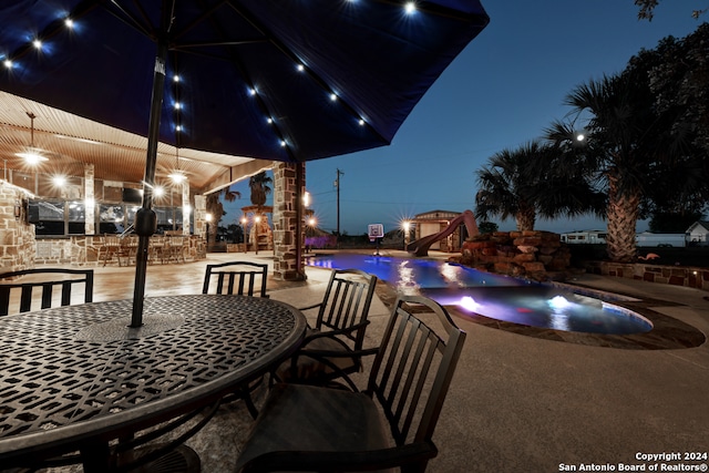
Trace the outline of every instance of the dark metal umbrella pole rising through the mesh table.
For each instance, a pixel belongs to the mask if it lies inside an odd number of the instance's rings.
[[[163,6],[163,27],[165,27],[165,6]],[[169,20],[167,20],[169,21]],[[163,28],[165,31],[165,28]],[[160,115],[163,109],[163,91],[165,89],[165,63],[167,61],[167,41],[164,35],[157,41],[155,71],[153,72],[153,99],[151,101],[150,125],[147,134],[147,157],[145,161],[145,178],[143,182],[143,206],[135,215],[135,233],[138,235],[137,255],[135,257],[135,286],[133,289],[133,315],[131,327],[143,325],[143,299],[145,298],[145,276],[147,271],[147,249],[151,235],[157,229],[157,220],[153,210],[153,186],[157,163],[157,141],[160,135]]]

